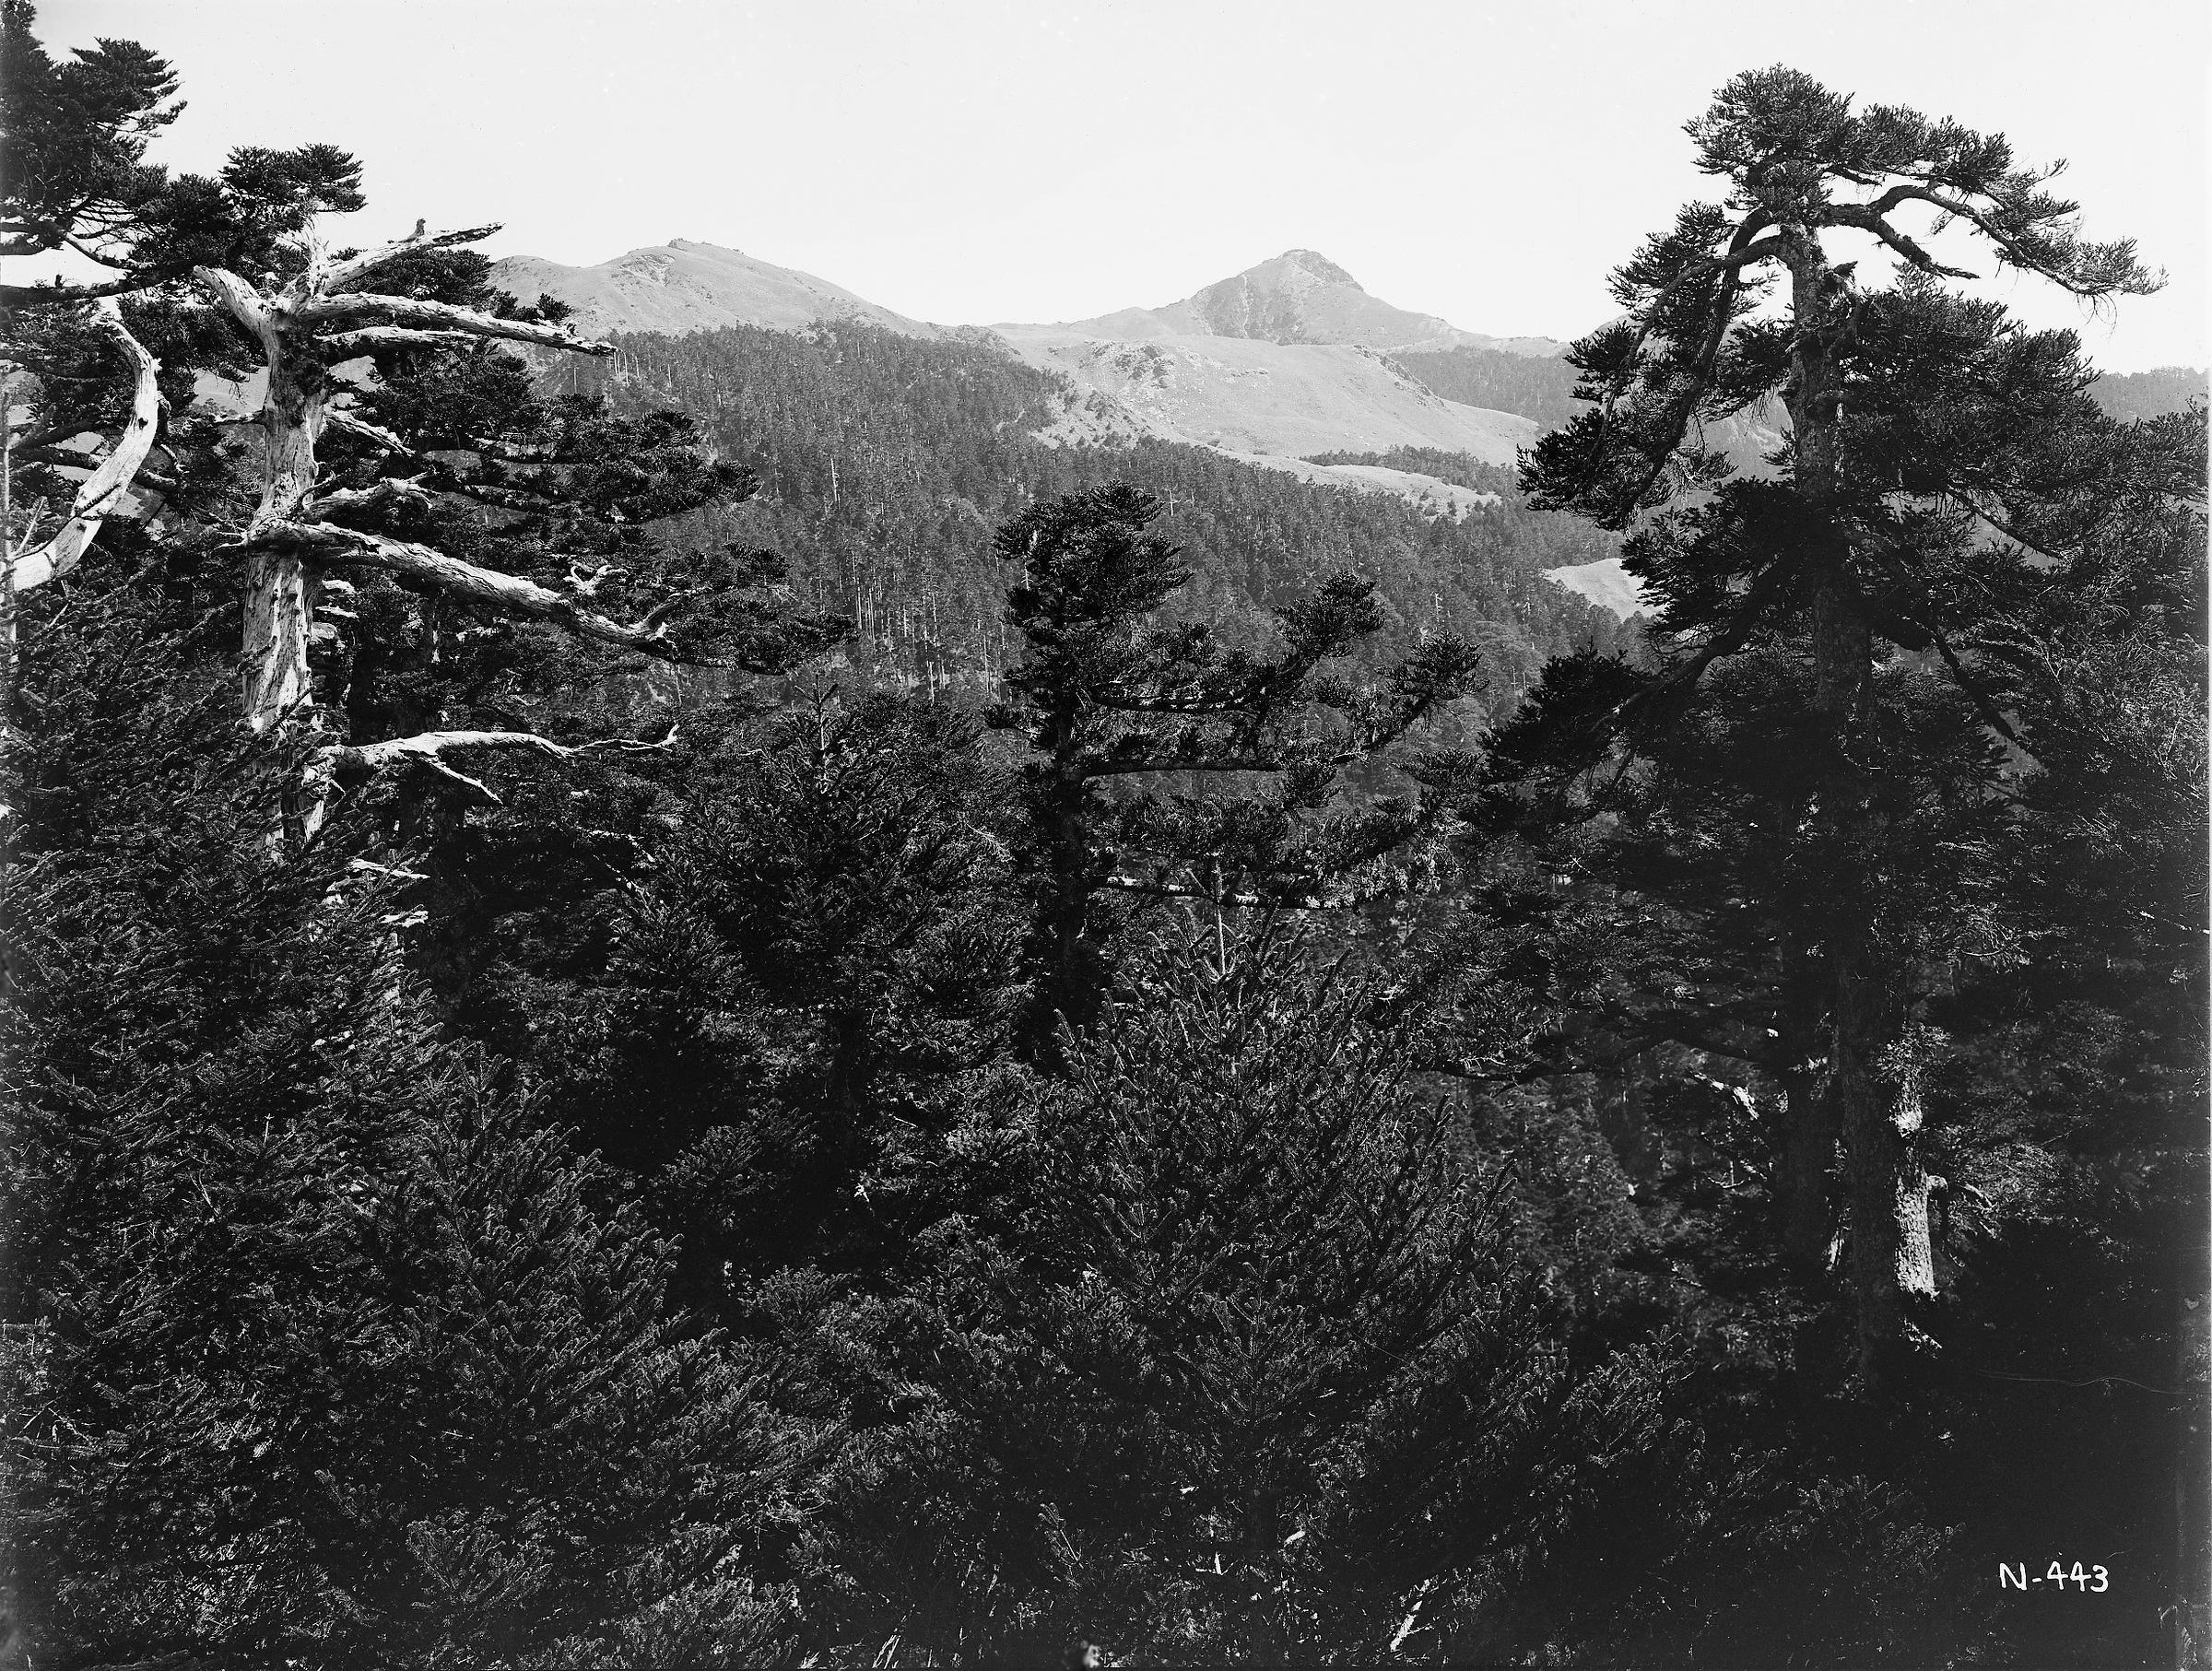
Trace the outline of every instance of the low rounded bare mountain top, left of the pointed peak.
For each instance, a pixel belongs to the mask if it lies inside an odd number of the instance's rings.
[[[624,330],[679,336],[721,325],[805,330],[816,319],[863,319],[900,336],[942,336],[936,325],[894,314],[812,272],[690,239],[630,250],[595,268],[511,255],[493,263],[491,281],[524,301],[542,294],[566,301],[584,336]]]

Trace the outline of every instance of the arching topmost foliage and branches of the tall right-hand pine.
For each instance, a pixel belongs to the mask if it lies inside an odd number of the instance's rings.
[[[2046,190],[2066,164],[2022,168],[2004,135],[1893,104],[1854,111],[1849,95],[1783,66],[1736,75],[1686,131],[1699,170],[1723,177],[1728,197],[1688,204],[1615,270],[1626,316],[1568,354],[1584,374],[1575,394],[1593,409],[1524,458],[1540,505],[1604,527],[1725,476],[1694,434],[1699,421],[1776,392],[1801,427],[1834,421],[1840,387],[1807,387],[1805,361],[1832,359],[1827,339],[1849,332],[1856,261],[1832,266],[1823,232],[1860,232],[1931,279],[1971,279],[1916,237],[1922,224],[1962,221],[1997,266],[2084,299],[2163,283],[2137,261],[2135,239],[2084,239],[2079,204]],[[1750,319],[1783,274],[1794,316]]]

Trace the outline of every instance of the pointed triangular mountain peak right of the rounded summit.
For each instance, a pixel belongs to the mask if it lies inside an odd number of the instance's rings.
[[[1002,334],[1053,332],[1144,343],[1159,336],[1243,336],[1261,343],[1334,343],[1378,350],[1491,347],[1551,356],[1548,336],[1484,336],[1436,314],[1413,314],[1369,297],[1358,279],[1316,250],[1283,250],[1272,261],[1210,283],[1166,308],[1124,308],[1062,325],[1000,325]]]

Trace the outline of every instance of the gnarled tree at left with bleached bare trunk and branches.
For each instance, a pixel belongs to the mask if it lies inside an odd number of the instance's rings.
[[[226,558],[243,560],[243,704],[248,724],[270,735],[272,741],[290,746],[305,764],[303,790],[288,814],[292,841],[312,839],[325,817],[334,779],[341,772],[376,772],[392,766],[425,766],[447,770],[445,755],[456,750],[529,748],[540,755],[568,755],[571,746],[555,744],[533,733],[500,730],[422,730],[411,737],[354,737],[341,739],[336,726],[325,719],[325,704],[316,697],[310,653],[319,637],[316,620],[323,606],[321,575],[325,569],[345,567],[356,571],[389,573],[407,584],[467,600],[476,609],[518,620],[540,620],[604,646],[633,651],[646,657],[681,662],[688,657],[714,660],[712,653],[688,644],[670,617],[697,611],[701,602],[712,602],[708,593],[743,591],[757,584],[768,571],[754,564],[750,571],[723,575],[717,587],[666,587],[664,595],[650,600],[635,620],[615,620],[602,613],[595,600],[597,584],[613,567],[602,560],[597,571],[568,567],[555,584],[542,584],[500,567],[467,562],[418,540],[400,540],[378,529],[407,527],[409,518],[420,518],[438,487],[465,491],[478,502],[495,502],[513,513],[513,520],[540,518],[542,525],[551,500],[562,498],[557,482],[566,474],[564,465],[588,465],[588,454],[608,452],[611,436],[595,434],[584,412],[571,412],[560,423],[538,423],[540,434],[518,443],[511,434],[480,434],[489,427],[482,421],[493,416],[484,409],[469,412],[478,429],[467,434],[442,434],[449,445],[467,443],[469,449],[498,460],[518,460],[524,469],[471,469],[456,476],[456,467],[431,467],[436,480],[425,487],[420,478],[407,480],[374,474],[363,487],[334,485],[332,471],[319,463],[319,447],[325,427],[334,427],[383,449],[394,460],[418,460],[420,454],[405,438],[372,423],[356,407],[349,383],[334,374],[334,367],[363,356],[405,356],[407,350],[453,350],[482,341],[520,341],[551,347],[566,347],[588,354],[611,352],[599,343],[584,343],[568,330],[553,323],[540,310],[522,310],[511,301],[493,299],[482,290],[480,272],[451,263],[440,266],[438,252],[453,250],[473,239],[487,237],[493,228],[471,228],[462,232],[425,232],[403,237],[376,250],[332,250],[321,232],[319,217],[330,208],[358,208],[358,166],[352,157],[330,148],[307,148],[301,153],[263,155],[239,153],[230,175],[241,193],[252,188],[252,201],[268,210],[261,215],[261,237],[250,243],[232,243],[230,255],[239,259],[243,272],[228,266],[201,261],[192,266],[195,286],[228,316],[234,330],[243,332],[252,347],[252,359],[265,376],[265,396],[252,418],[259,434],[261,494],[243,533],[230,542]],[[226,175],[228,179],[228,175]],[[119,212],[119,210],[117,210]],[[436,294],[451,288],[456,277],[467,283],[476,279],[478,294],[471,301],[489,305],[467,305]],[[372,281],[394,281],[389,290],[367,290]],[[44,301],[44,297],[40,297]],[[111,323],[111,332],[122,332]],[[139,396],[131,425],[115,452],[80,494],[77,516],[35,551],[22,553],[9,564],[9,582],[22,593],[44,584],[82,556],[84,544],[97,531],[97,511],[113,505],[133,482],[153,443],[153,409],[157,403],[153,359],[128,341],[126,352],[137,361]],[[420,401],[416,401],[416,416]],[[449,418],[453,414],[447,414]],[[502,414],[513,416],[513,414]],[[460,427],[467,427],[462,421]],[[551,434],[546,434],[551,429]],[[650,434],[630,438],[655,445]],[[431,463],[431,460],[422,460]],[[635,471],[635,465],[630,467]],[[489,480],[487,480],[489,476]],[[520,476],[520,480],[518,480]],[[586,498],[597,498],[619,518],[619,491],[611,498],[611,480],[619,471],[602,471],[588,482]],[[635,487],[635,474],[624,485]],[[661,489],[664,502],[644,507],[646,516],[666,516],[690,509],[701,498],[748,489],[748,478],[723,467],[708,471],[703,485],[692,485],[688,496],[670,498],[668,482],[650,482]],[[650,496],[650,494],[648,494]],[[633,507],[635,509],[635,507]],[[566,533],[571,527],[551,529]],[[555,540],[557,542],[557,540]],[[604,542],[602,542],[604,544]],[[619,551],[619,542],[615,547]],[[591,558],[606,556],[584,542],[582,549],[562,556]],[[745,655],[739,653],[739,664]],[[467,781],[467,779],[462,779]]]

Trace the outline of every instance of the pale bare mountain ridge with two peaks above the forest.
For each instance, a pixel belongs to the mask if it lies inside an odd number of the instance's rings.
[[[1394,308],[1369,297],[1349,272],[1312,250],[1287,250],[1168,308],[991,330],[927,325],[814,274],[688,239],[630,250],[593,268],[509,257],[493,266],[491,277],[526,299],[551,294],[566,301],[588,336],[695,339],[752,328],[843,343],[845,325],[867,325],[900,339],[958,345],[969,365],[962,376],[973,378],[975,365],[998,359],[1033,378],[1040,398],[1024,396],[1018,403],[1024,409],[1024,434],[1051,449],[1113,447],[1128,463],[1135,458],[1133,447],[1201,447],[1237,467],[1294,476],[1307,489],[1349,489],[1356,498],[1396,500],[1420,518],[1453,525],[1478,511],[1495,513],[1495,491],[1422,469],[1312,463],[1312,456],[1425,449],[1464,454],[1491,467],[1511,465],[1515,452],[1540,434],[1533,416],[1444,398],[1391,354],[1420,350],[1500,359],[1531,367],[1522,378],[1531,387],[1555,381],[1537,367],[1559,367],[1553,359],[1559,345],[1551,339],[1482,336],[1433,314]],[[721,343],[717,352],[732,350]],[[626,354],[639,361],[644,350],[626,345]],[[655,352],[650,359],[659,363],[661,356]],[[790,374],[774,356],[763,359],[759,345],[748,350],[748,359],[757,372],[776,365],[776,376]],[[672,383],[684,383],[681,363],[686,361],[679,356],[679,363],[666,367]],[[1509,385],[1511,381],[1498,383]],[[681,398],[703,418],[734,416],[719,396],[699,398],[686,390]],[[754,409],[752,421],[730,434],[732,445],[743,429],[772,434],[761,425],[765,416]],[[1006,414],[993,416],[993,423],[1006,421]],[[849,458],[838,463],[845,471],[852,469]],[[1082,469],[1075,478],[1082,478]],[[1230,482],[1234,476],[1221,480]],[[1164,478],[1161,485],[1181,491],[1175,480]],[[975,502],[978,489],[962,487],[953,498]],[[830,500],[838,500],[834,485]],[[796,529],[776,533],[790,547]],[[834,582],[823,575],[825,591],[852,589],[867,595],[872,582],[863,580],[865,562],[838,558],[832,567],[838,575]],[[1582,567],[1586,564],[1559,575],[1568,591],[1601,602],[1615,615],[1630,613],[1626,604],[1632,593],[1624,593],[1617,582],[1586,584]],[[929,582],[940,598],[960,593],[960,584],[942,575]],[[978,606],[987,615],[995,613],[987,604]],[[1568,617],[1575,617],[1575,609],[1568,609]]]

